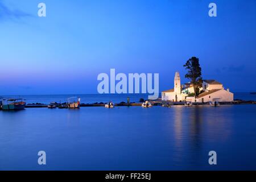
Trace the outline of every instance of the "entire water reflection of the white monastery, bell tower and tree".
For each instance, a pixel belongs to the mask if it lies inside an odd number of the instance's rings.
[[[230,106],[172,107],[174,162],[188,166],[207,165],[208,152],[217,150],[216,142],[227,142],[232,135]],[[184,155],[185,154],[185,155]]]

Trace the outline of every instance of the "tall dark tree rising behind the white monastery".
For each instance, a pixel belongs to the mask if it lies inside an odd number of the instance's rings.
[[[183,65],[188,73],[185,75],[185,78],[188,78],[194,88],[194,96],[199,95],[199,88],[202,86],[202,77],[201,77],[201,67],[199,64],[199,59],[197,57],[191,57]]]

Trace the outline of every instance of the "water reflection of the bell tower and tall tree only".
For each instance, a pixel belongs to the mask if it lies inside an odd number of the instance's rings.
[[[174,163],[198,166],[197,161],[202,155],[203,110],[197,106],[174,106],[172,109]]]

